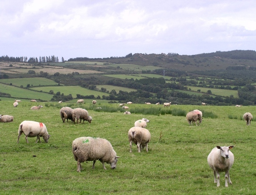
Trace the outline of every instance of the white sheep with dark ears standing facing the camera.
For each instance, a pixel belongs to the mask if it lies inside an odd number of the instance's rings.
[[[216,146],[210,152],[207,157],[207,162],[214,173],[214,183],[217,183],[217,187],[220,187],[220,172],[225,171],[225,187],[232,184],[229,177],[229,170],[234,164],[234,154],[229,151],[229,149],[234,148],[234,146]],[[217,179],[216,179],[217,173]]]

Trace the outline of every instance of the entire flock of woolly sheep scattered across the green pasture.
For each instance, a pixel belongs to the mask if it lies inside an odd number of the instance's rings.
[[[15,100],[13,106],[17,107],[19,105],[18,102],[21,100]],[[31,100],[31,102],[36,102],[36,100]],[[62,103],[62,101],[58,102]],[[79,99],[77,104],[83,104],[83,99]],[[96,100],[92,101],[92,104],[96,104]],[[127,104],[132,104],[132,102],[127,102]],[[150,105],[149,102],[145,102],[145,104]],[[159,105],[159,102],[156,103]],[[164,107],[170,107],[171,102],[165,102]],[[202,105],[206,105],[206,103],[202,102]],[[128,110],[129,107],[125,106],[125,103],[119,104],[125,110]],[[31,110],[39,110],[42,108],[42,105],[33,106]],[[236,105],[236,107],[238,107]],[[99,107],[101,108],[101,107]],[[131,115],[131,112],[125,111],[124,114]],[[82,108],[70,108],[70,107],[62,107],[60,109],[60,116],[63,123],[67,120],[71,120],[78,124],[78,121],[83,120],[88,121],[90,124],[92,122],[92,117],[89,116],[87,110]],[[250,122],[253,119],[253,115],[249,112],[243,115],[244,120],[246,121],[246,125],[250,125]],[[200,110],[192,110],[186,114],[186,120],[189,125],[193,125],[195,122],[196,126],[199,126],[202,123],[203,113]],[[7,123],[12,122],[14,117],[11,115],[0,115],[0,122]],[[146,147],[146,151],[148,152],[148,143],[150,142],[151,135],[150,132],[145,129],[147,123],[150,122],[146,118],[142,118],[138,121],[135,121],[134,126],[131,127],[128,131],[128,141],[130,143],[130,152],[132,152],[132,143],[136,144],[137,152],[141,152],[144,147]],[[47,132],[47,128],[45,124],[36,122],[36,121],[23,121],[19,124],[18,129],[18,139],[17,143],[19,143],[19,138],[25,134],[25,140],[28,143],[28,137],[36,137],[36,143],[39,140],[41,143],[40,137],[43,137],[46,143],[48,143],[48,139],[50,135]],[[207,157],[207,162],[209,167],[214,172],[214,183],[217,183],[217,187],[220,186],[220,172],[225,172],[225,187],[228,187],[228,183],[231,183],[229,170],[234,164],[234,154],[230,151],[234,146],[216,146],[211,150]],[[72,142],[72,153],[75,161],[77,161],[77,171],[81,172],[82,167],[81,163],[86,161],[93,161],[92,168],[95,168],[96,160],[100,160],[103,165],[103,169],[106,169],[104,163],[110,164],[111,168],[114,169],[117,167],[117,153],[114,151],[111,143],[102,138],[95,137],[78,137]]]

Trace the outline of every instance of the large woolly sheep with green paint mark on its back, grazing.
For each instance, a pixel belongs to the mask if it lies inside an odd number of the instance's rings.
[[[103,169],[106,170],[104,163],[109,163],[112,169],[117,167],[117,153],[111,143],[102,138],[79,137],[72,142],[72,152],[77,161],[77,172],[81,172],[81,162],[93,161],[92,168],[95,168],[96,160],[100,160]]]

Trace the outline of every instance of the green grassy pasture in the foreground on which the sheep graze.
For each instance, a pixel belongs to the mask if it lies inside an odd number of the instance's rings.
[[[122,195],[212,195],[256,194],[254,151],[256,126],[246,126],[240,117],[245,112],[253,115],[256,107],[234,106],[183,106],[173,105],[170,110],[186,112],[202,110],[212,112],[217,118],[204,117],[200,126],[189,126],[184,116],[174,115],[124,115],[123,111],[97,112],[92,104],[79,105],[92,116],[92,124],[63,124],[59,116],[62,106],[77,104],[42,103],[40,110],[30,110],[31,102],[21,102],[17,108],[12,102],[1,101],[1,113],[14,116],[11,123],[0,123],[0,193],[20,194],[122,194]],[[96,104],[95,107],[118,108],[118,104]],[[162,105],[159,105],[162,107]],[[145,111],[157,105],[131,104],[130,110]],[[162,108],[163,109],[163,108]],[[229,119],[229,116],[237,119]],[[134,121],[147,118],[151,133],[148,153],[136,152],[133,145],[129,153],[128,130]],[[36,137],[24,135],[17,144],[18,127],[24,120],[45,123],[51,135],[48,143],[35,143]],[[72,154],[72,141],[77,137],[92,136],[109,140],[120,156],[117,169],[103,170],[99,161],[82,163],[81,173],[76,172]],[[215,146],[234,145],[235,162],[230,170],[232,185],[225,187],[224,173],[220,174],[220,187],[214,184],[213,171],[207,156]]]

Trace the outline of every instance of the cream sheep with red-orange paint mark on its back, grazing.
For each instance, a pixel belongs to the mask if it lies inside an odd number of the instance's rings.
[[[50,138],[50,135],[47,132],[45,124],[36,121],[23,121],[21,124],[19,124],[19,135],[17,143],[19,143],[19,137],[22,135],[22,133],[25,134],[25,139],[27,143],[28,137],[36,137],[36,143],[38,140],[41,143],[40,137],[43,137],[45,143],[48,143],[48,139]]]

